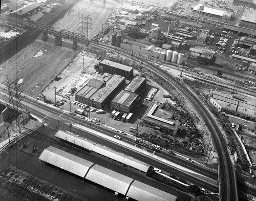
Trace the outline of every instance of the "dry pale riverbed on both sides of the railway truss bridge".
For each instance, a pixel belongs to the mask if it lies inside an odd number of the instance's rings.
[[[89,29],[88,38],[91,39],[101,31],[102,24],[108,20],[115,5],[116,2],[111,0],[106,5],[89,0],[79,1],[64,17],[56,21],[53,27],[56,30],[66,29],[81,33],[81,14],[90,14],[92,25],[89,26],[91,30]],[[85,29],[83,34],[87,35]],[[0,82],[4,82],[8,75],[11,80],[17,79],[23,84],[25,93],[37,96],[78,55],[79,51],[72,50],[71,44],[72,41],[64,40],[63,47],[58,47],[53,44],[53,37],[50,36],[48,41],[44,42],[39,36],[38,40],[0,64]]]

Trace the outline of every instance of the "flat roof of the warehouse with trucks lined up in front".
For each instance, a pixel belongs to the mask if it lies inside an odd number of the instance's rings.
[[[112,102],[125,105],[125,106],[130,106],[138,97],[138,94],[122,90],[119,92],[119,94],[112,100]]]

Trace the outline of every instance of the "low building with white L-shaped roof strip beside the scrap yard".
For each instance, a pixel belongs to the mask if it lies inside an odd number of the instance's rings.
[[[152,103],[141,118],[141,123],[159,129],[171,135],[178,135],[182,130],[178,121],[170,120],[173,112],[161,109],[159,104]]]

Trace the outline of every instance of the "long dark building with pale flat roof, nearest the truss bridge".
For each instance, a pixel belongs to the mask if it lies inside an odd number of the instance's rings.
[[[131,79],[133,77],[133,68],[121,63],[103,59],[99,62],[99,73],[117,74]]]

